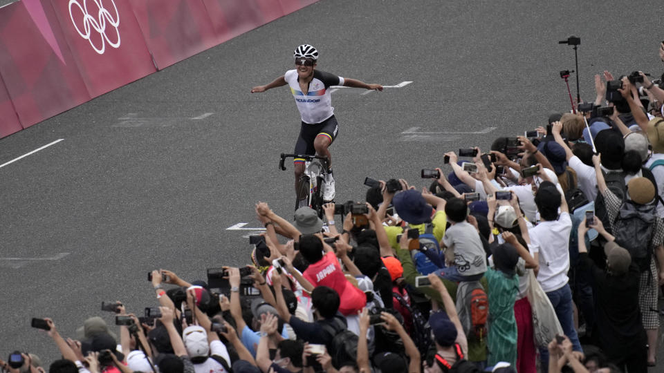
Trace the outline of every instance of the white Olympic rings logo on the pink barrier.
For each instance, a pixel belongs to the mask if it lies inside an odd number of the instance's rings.
[[[109,0],[107,0],[107,3],[108,1]],[[113,0],[110,1],[115,10],[115,17],[111,15],[111,12],[109,12],[107,8],[104,8],[104,0],[91,1],[91,3],[93,2],[98,9],[96,14],[97,17],[90,15],[90,12],[88,11],[88,0],[83,0],[82,6],[77,0],[69,0],[69,17],[71,17],[71,23],[74,25],[78,35],[81,35],[83,39],[89,41],[95,52],[98,52],[100,55],[104,54],[107,43],[113,48],[118,48],[120,46],[120,30],[118,30],[118,26],[120,26],[120,13],[118,12],[116,3],[113,2]],[[83,15],[83,30],[81,30],[74,21],[74,14],[71,11],[72,6],[79,8]],[[91,10],[94,10],[93,6],[91,6]],[[115,41],[111,41],[106,33],[107,27],[110,30],[111,26],[116,29],[116,37],[113,38]],[[95,37],[95,34],[99,34],[99,37]]]

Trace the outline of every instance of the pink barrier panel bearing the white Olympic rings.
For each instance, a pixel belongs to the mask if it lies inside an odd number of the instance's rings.
[[[129,0],[51,0],[91,97],[156,69]]]

